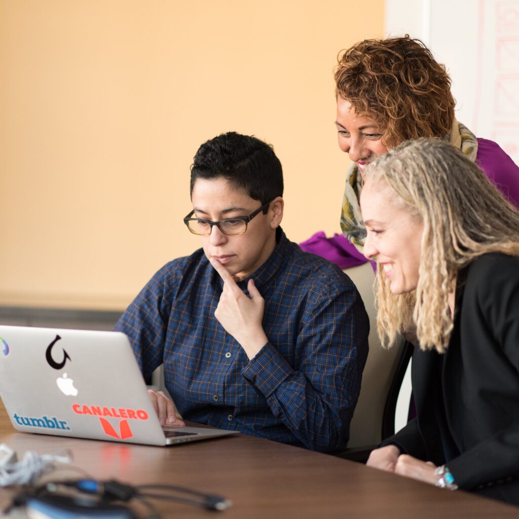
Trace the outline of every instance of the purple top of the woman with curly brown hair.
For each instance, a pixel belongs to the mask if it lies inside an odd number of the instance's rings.
[[[477,139],[476,164],[500,192],[519,208],[519,168],[501,146],[487,139]],[[326,238],[321,230],[299,245],[305,252],[326,258],[342,269],[367,262],[364,255],[343,235],[335,234],[333,238]]]

